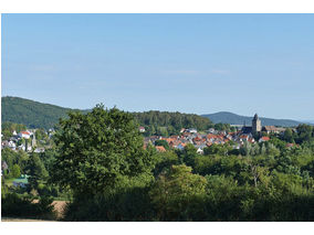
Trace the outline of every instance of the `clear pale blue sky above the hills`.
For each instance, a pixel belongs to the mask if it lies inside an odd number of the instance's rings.
[[[2,96],[314,119],[314,14],[2,14]]]

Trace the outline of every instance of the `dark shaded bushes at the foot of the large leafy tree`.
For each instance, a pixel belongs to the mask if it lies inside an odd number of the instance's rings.
[[[155,221],[148,188],[130,188],[115,194],[97,195],[67,204],[64,221]]]

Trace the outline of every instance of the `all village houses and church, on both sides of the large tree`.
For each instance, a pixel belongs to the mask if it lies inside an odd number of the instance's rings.
[[[195,128],[182,128],[180,135],[163,137],[163,136],[150,136],[144,138],[144,146],[148,143],[155,146],[157,151],[166,151],[164,146],[155,145],[156,140],[165,140],[170,148],[182,150],[186,145],[191,143],[197,149],[197,152],[202,154],[206,147],[211,145],[224,145],[232,142],[233,149],[240,149],[245,142],[264,142],[269,141],[270,137],[268,135],[276,133],[283,135],[285,128],[274,127],[274,126],[262,126],[258,115],[252,119],[252,126],[245,125],[233,125],[237,131],[228,132],[224,130],[216,130],[214,128],[209,128],[207,131],[198,132]],[[12,136],[2,140],[1,149],[10,148],[13,151],[25,151],[25,152],[44,152],[49,145],[45,145],[44,140],[36,140],[35,138],[36,129],[28,129],[24,131],[12,132]],[[145,128],[139,127],[139,132],[144,133]],[[48,139],[53,137],[54,129],[49,129],[45,131]],[[263,133],[263,135],[262,135]],[[257,138],[258,137],[258,138]]]

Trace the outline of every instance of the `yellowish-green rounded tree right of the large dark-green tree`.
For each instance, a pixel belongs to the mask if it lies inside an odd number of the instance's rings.
[[[206,179],[191,173],[191,168],[172,165],[158,177],[149,195],[159,220],[190,221],[197,215],[206,192]]]

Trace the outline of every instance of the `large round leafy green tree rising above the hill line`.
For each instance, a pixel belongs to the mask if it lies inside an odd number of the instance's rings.
[[[151,153],[130,114],[97,105],[91,113],[70,113],[55,135],[57,156],[52,181],[76,199],[102,194],[123,181],[151,171]]]

